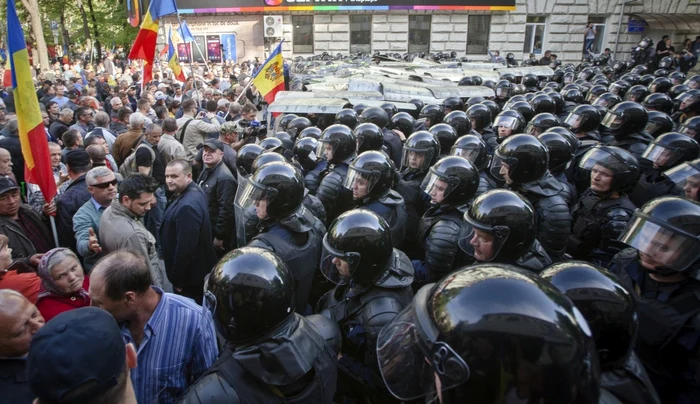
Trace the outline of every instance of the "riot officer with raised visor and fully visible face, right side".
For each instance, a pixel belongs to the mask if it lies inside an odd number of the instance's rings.
[[[576,175],[589,188],[573,209],[567,252],[575,259],[606,266],[617,252],[613,242],[634,211],[625,193],[639,178],[639,164],[623,149],[597,146],[581,159]]]

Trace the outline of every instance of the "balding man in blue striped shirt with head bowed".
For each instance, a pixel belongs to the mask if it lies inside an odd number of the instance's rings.
[[[131,381],[139,403],[175,402],[216,360],[211,316],[191,299],[153,286],[142,257],[117,251],[103,258],[90,275],[90,297],[137,348]]]

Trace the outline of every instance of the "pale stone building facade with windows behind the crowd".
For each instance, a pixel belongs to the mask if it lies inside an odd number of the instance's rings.
[[[670,35],[678,49],[686,38],[695,40],[700,35],[700,0],[511,0],[494,3],[495,6],[472,5],[475,0],[464,0],[469,5],[463,6],[420,6],[413,4],[416,0],[408,0],[412,5],[390,7],[328,6],[328,2],[319,0],[284,0],[286,5],[281,4],[282,0],[265,0],[267,5],[253,7],[251,2],[263,0],[234,0],[233,3],[242,2],[243,7],[206,9],[187,8],[191,6],[189,1],[178,0],[178,5],[192,33],[200,36],[202,42],[234,33],[236,56],[245,60],[263,58],[284,38],[285,57],[323,52],[454,51],[460,57],[484,61],[487,49],[499,50],[503,56],[512,52],[519,60],[530,54],[540,57],[551,50],[563,62],[578,62],[583,56],[588,22],[596,27],[593,51],[610,48],[617,59],[626,59],[630,50],[647,36],[656,43],[663,35]],[[343,1],[356,4],[338,0]],[[274,3],[278,5],[269,5]],[[372,4],[372,0],[367,0],[367,4]],[[264,34],[270,29],[266,23],[272,21],[269,17],[281,22],[274,37]],[[206,56],[204,53],[203,50],[202,57]],[[215,61],[216,57],[209,59]]]

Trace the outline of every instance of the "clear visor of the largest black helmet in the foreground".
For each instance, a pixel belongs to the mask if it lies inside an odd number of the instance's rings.
[[[449,345],[436,341],[425,302],[433,285],[424,286],[414,303],[384,326],[377,336],[379,370],[391,394],[399,400],[434,397],[469,379],[469,368]],[[427,329],[426,329],[427,328]]]

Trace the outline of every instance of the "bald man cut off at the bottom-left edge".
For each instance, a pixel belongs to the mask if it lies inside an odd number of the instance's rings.
[[[19,292],[0,289],[0,391],[7,403],[31,403],[27,382],[27,353],[44,317]]]

